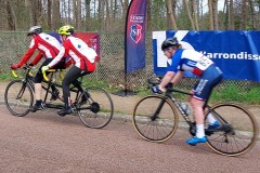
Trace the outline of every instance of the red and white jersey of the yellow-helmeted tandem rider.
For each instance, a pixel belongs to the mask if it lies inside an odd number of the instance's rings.
[[[69,36],[64,42],[58,55],[48,65],[55,66],[63,57],[69,56],[76,67],[92,72],[95,70],[96,52],[79,38]]]

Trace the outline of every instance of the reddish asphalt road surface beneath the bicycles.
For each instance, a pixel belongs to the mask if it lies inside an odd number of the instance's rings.
[[[184,143],[178,130],[155,144],[138,136],[130,122],[113,120],[88,129],[78,117],[39,111],[14,117],[0,106],[0,173],[187,173],[260,170],[260,143],[239,157],[221,156],[200,144]]]

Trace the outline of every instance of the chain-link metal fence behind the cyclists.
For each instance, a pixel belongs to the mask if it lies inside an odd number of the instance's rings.
[[[101,38],[101,61],[95,72],[88,76],[88,79],[104,81],[112,88],[119,88],[136,91],[146,86],[147,78],[153,74],[153,51],[152,35],[146,35],[146,66],[144,69],[125,74],[125,35],[115,32],[100,34]],[[10,65],[17,63],[28,49],[29,38],[26,32],[0,31],[0,74],[8,74]],[[127,81],[127,83],[126,83]],[[183,89],[191,89],[196,79],[184,79],[179,84]],[[242,90],[249,90],[258,85],[251,81],[225,80],[219,88],[224,85],[238,85]]]

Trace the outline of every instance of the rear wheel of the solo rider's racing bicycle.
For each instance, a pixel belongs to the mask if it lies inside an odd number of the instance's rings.
[[[220,122],[220,127],[208,135],[207,144],[211,149],[221,155],[238,156],[253,147],[258,137],[258,124],[247,109],[236,104],[219,104],[211,109],[209,112]],[[225,122],[214,116],[214,112]],[[227,127],[224,128],[224,124]]]

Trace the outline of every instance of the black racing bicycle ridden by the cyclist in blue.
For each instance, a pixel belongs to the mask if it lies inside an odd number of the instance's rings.
[[[159,79],[150,79],[148,83],[156,86]],[[190,133],[196,133],[195,122],[181,107],[176,95],[192,95],[188,92],[171,86],[165,93],[148,95],[141,98],[133,109],[132,122],[138,134],[150,142],[165,142],[177,132],[179,115],[186,122]],[[239,156],[249,151],[258,138],[258,123],[256,118],[245,107],[234,103],[223,103],[209,106],[205,104],[206,118],[212,115],[220,125],[216,129],[207,128],[205,133],[208,146],[218,154]]]

